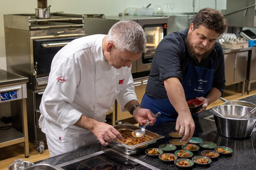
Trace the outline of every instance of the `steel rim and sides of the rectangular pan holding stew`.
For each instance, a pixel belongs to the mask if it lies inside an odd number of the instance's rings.
[[[132,125],[130,123],[123,123],[123,124],[115,125],[113,127],[117,130],[128,129],[128,130],[131,130],[131,131],[134,131],[134,130],[137,130],[137,129],[140,128],[140,127]],[[150,138],[149,141],[142,142],[140,144],[135,144],[135,145],[128,145],[128,144],[123,144],[123,143],[118,142],[118,141],[112,141],[112,142],[109,143],[109,146],[112,147],[115,150],[118,150],[122,153],[125,153],[126,155],[133,155],[133,154],[139,153],[141,151],[145,151],[145,148],[147,146],[149,146],[150,144],[156,143],[156,140],[158,140],[158,139],[164,138],[164,136],[162,136],[160,134],[151,132],[147,129],[145,129],[145,130],[146,130],[145,136]]]

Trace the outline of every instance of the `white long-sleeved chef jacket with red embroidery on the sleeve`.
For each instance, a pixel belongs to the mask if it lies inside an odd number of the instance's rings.
[[[63,132],[82,131],[96,139],[92,132],[74,126],[82,114],[104,122],[106,112],[111,109],[115,99],[122,111],[126,111],[124,106],[129,101],[137,100],[131,67],[116,69],[105,61],[102,51],[105,36],[92,35],[75,39],[54,56],[48,84],[40,104],[39,125],[46,133],[46,124],[51,124],[48,131],[54,132],[52,136],[48,134],[48,138],[62,142],[63,137],[61,139],[58,135]],[[88,138],[90,137],[84,139]],[[85,142],[66,151],[88,144],[91,143]],[[54,149],[55,146],[52,147]]]

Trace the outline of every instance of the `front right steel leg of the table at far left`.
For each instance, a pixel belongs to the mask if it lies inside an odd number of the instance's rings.
[[[24,155],[25,158],[29,156],[29,143],[28,143],[28,130],[27,130],[27,105],[26,98],[21,101],[21,110],[22,110],[22,127],[23,127],[23,135],[24,135]]]

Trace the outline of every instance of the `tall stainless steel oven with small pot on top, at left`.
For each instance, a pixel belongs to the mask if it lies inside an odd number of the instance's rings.
[[[67,43],[85,36],[83,15],[51,13],[48,19],[35,14],[4,15],[4,31],[7,71],[28,77],[28,137],[42,153],[47,144],[38,126],[39,106],[52,59]]]

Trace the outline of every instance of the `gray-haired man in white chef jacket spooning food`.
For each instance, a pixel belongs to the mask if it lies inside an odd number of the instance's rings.
[[[142,27],[123,20],[107,35],[75,39],[54,56],[39,119],[50,156],[123,140],[113,126],[104,123],[115,99],[138,123],[154,124],[154,113],[137,102],[131,76],[131,63],[145,48]]]

